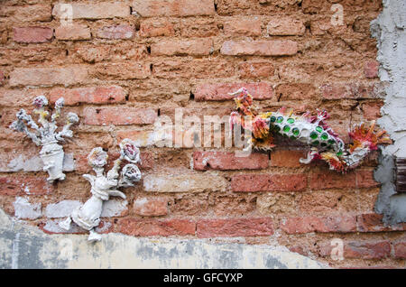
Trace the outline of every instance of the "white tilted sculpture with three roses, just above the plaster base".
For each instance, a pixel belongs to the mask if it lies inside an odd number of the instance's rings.
[[[118,196],[126,199],[121,187],[134,186],[134,182],[141,180],[141,172],[134,164],[140,162],[140,150],[134,142],[125,139],[120,144],[120,157],[115,160],[113,168],[105,175],[105,165],[107,163],[107,153],[101,147],[94,148],[88,155],[88,163],[92,166],[96,176],[84,174],[83,177],[91,184],[92,196],[81,207],[73,210],[66,220],[60,222],[60,227],[69,230],[73,220],[79,227],[89,230],[88,241],[100,241],[101,236],[95,231],[100,223],[100,215],[103,210],[103,202],[110,196]],[[119,173],[123,160],[131,163],[125,164]]]

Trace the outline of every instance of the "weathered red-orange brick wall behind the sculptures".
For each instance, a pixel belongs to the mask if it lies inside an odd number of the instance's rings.
[[[334,267],[404,266],[406,225],[374,214],[377,154],[346,175],[300,165],[303,148],[281,144],[241,161],[226,148],[150,143],[158,116],[228,115],[226,94],[247,87],[258,106],[327,109],[346,140],[354,123],[383,105],[369,22],[378,0],[343,0],[344,25],[328,1],[80,1],[60,24],[56,1],[0,6],[0,205],[10,215],[60,233],[56,223],[89,196],[86,156],[117,156],[125,137],[141,145],[143,181],[111,200],[99,232],[130,236],[216,237],[218,242],[286,245]],[[49,185],[37,148],[8,129],[32,99],[65,97],[78,113],[64,145],[75,162]],[[41,162],[41,161],[40,161]],[[81,233],[73,228],[69,232]],[[330,242],[344,243],[343,261]]]

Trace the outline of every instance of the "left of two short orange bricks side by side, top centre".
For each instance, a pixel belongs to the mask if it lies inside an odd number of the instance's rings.
[[[238,17],[224,23],[224,32],[231,35],[260,36],[261,21],[257,17]]]

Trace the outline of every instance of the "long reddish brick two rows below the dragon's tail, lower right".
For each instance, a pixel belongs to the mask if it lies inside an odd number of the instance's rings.
[[[288,234],[355,232],[356,218],[355,216],[287,218],[281,223],[281,229]]]

